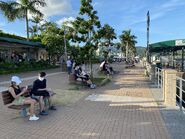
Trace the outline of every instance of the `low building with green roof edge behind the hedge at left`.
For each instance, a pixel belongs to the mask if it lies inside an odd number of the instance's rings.
[[[46,60],[47,52],[39,42],[0,37],[0,59]]]

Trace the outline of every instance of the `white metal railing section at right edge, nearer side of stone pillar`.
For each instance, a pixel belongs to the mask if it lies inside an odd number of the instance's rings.
[[[182,111],[182,109],[185,107],[185,80],[180,78],[180,77],[176,77],[176,103],[177,105],[180,107],[180,110]]]

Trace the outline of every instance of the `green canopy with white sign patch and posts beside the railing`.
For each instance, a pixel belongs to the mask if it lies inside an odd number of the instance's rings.
[[[174,59],[174,52],[178,50],[182,50],[182,68],[183,71],[184,67],[184,48],[185,48],[185,39],[178,39],[178,40],[169,40],[163,41],[158,43],[149,44],[149,53],[165,53],[165,52],[172,52],[173,59]],[[174,62],[173,62],[174,67]]]

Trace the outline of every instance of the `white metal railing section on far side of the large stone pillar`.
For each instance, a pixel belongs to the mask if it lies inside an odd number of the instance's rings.
[[[163,72],[162,69],[155,67],[155,78],[157,79],[157,87],[163,88]]]

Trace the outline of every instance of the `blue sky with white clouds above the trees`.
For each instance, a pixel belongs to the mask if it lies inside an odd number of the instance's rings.
[[[8,0],[4,0],[5,2]],[[75,18],[80,0],[46,0],[48,6],[41,9],[47,20],[63,21]],[[103,24],[108,23],[117,35],[131,29],[137,36],[137,46],[146,46],[146,14],[150,11],[150,43],[185,38],[185,0],[93,0],[95,10]],[[26,36],[25,22],[8,22],[0,14],[0,29],[8,33]]]

